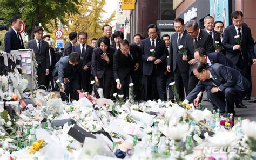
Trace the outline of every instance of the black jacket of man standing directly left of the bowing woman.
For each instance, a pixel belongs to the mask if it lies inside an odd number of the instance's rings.
[[[93,52],[93,48],[91,46],[86,45],[86,49],[85,49],[85,54],[84,55],[81,54],[80,45],[77,45],[76,47],[73,47],[72,52],[78,52],[78,54],[83,58],[82,67],[84,67],[85,65],[88,66],[89,68],[91,67],[91,64],[92,64],[92,52]]]

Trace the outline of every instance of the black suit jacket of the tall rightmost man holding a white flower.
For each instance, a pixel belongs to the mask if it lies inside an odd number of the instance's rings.
[[[251,34],[251,29],[242,25],[242,39],[241,39],[241,50],[244,60],[247,63],[249,58],[253,59],[254,55],[252,54],[253,50],[253,38]],[[236,45],[234,36],[238,35],[235,30],[235,26],[228,26],[223,33],[223,47],[226,49],[226,57],[231,60],[234,64],[237,64],[240,57],[240,50],[233,50],[233,46]],[[248,54],[250,56],[248,56]]]

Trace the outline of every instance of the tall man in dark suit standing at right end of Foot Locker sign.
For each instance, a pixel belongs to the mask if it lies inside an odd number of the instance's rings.
[[[174,29],[176,33],[172,34],[169,52],[169,60],[167,63],[167,71],[174,72],[174,81],[179,94],[179,98],[184,100],[185,93],[188,94],[188,70],[190,68],[187,61],[183,61],[183,55],[179,53],[178,46],[185,46],[187,31],[185,30],[184,20],[182,18],[174,19]]]

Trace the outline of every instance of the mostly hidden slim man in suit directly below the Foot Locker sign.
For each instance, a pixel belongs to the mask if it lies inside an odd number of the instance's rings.
[[[162,37],[161,37],[163,40],[164,40],[164,42],[165,42],[165,46],[166,46],[166,48],[167,48],[167,50],[168,50],[168,54],[170,54],[171,53],[171,49],[170,49],[170,47],[171,47],[171,39],[170,39],[170,35],[169,34],[164,34],[164,35],[162,35]],[[167,56],[167,62],[169,61],[169,59],[170,59],[170,57],[169,56]],[[165,71],[165,75],[166,75],[166,77],[165,77],[165,79],[166,79],[166,82],[165,82],[165,84],[166,84],[166,88],[168,89],[168,93],[169,93],[169,100],[171,100],[171,101],[174,101],[174,95],[173,95],[173,91],[172,91],[172,88],[171,88],[171,86],[169,85],[171,82],[173,82],[174,81],[174,75],[173,75],[173,71],[171,70],[170,72],[168,72],[167,70]]]

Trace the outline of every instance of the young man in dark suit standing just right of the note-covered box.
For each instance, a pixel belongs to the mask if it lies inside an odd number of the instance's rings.
[[[49,45],[48,42],[42,40],[43,32],[42,27],[36,27],[34,30],[35,39],[30,40],[26,45],[26,49],[33,49],[36,55],[38,86],[45,85],[45,76],[49,74]]]

